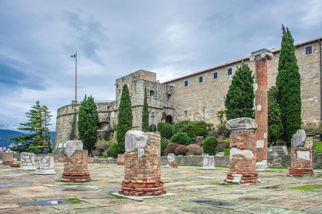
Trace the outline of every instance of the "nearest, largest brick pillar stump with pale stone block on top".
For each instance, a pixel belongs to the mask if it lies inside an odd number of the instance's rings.
[[[129,130],[125,135],[123,195],[162,195],[160,132]]]

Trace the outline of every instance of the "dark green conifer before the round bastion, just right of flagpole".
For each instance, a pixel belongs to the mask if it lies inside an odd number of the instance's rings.
[[[97,129],[99,123],[99,114],[92,95],[86,99],[86,94],[83,102],[81,102],[78,110],[78,137],[83,142],[84,149],[88,150],[91,156],[91,151],[97,141]]]

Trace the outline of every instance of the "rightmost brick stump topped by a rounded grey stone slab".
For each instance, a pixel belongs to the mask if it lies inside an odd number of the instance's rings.
[[[306,137],[303,129],[298,129],[292,137],[291,167],[289,176],[314,176],[312,167],[313,138]]]

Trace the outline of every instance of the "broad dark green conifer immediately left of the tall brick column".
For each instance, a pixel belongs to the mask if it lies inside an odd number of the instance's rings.
[[[237,66],[225,99],[227,120],[239,117],[254,118],[254,75],[251,73],[251,69],[243,61],[241,67]]]

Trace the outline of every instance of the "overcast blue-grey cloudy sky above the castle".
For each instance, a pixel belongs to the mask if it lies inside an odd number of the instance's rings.
[[[0,1],[0,129],[38,100],[54,115],[75,99],[115,99],[139,69],[160,82],[322,36],[322,1]]]

